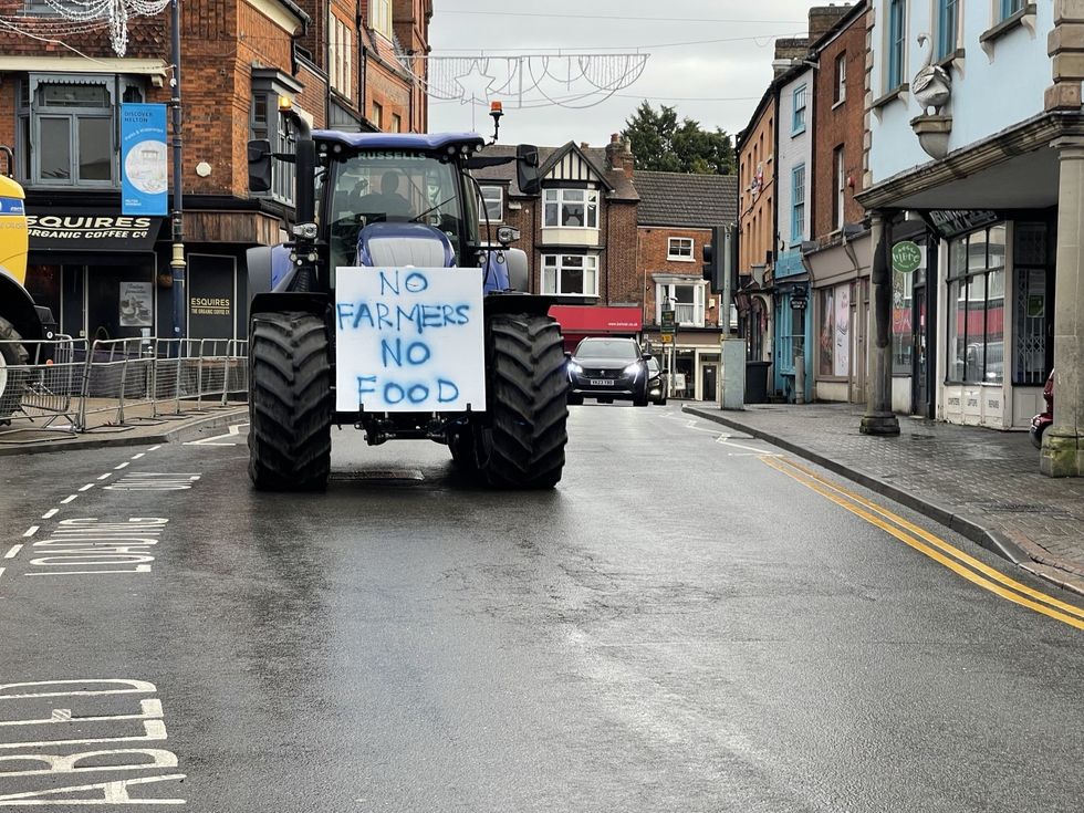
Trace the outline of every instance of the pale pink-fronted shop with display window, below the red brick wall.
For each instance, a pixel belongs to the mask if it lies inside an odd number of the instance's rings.
[[[865,403],[871,251],[869,232],[862,232],[804,254],[812,277],[816,400]]]

